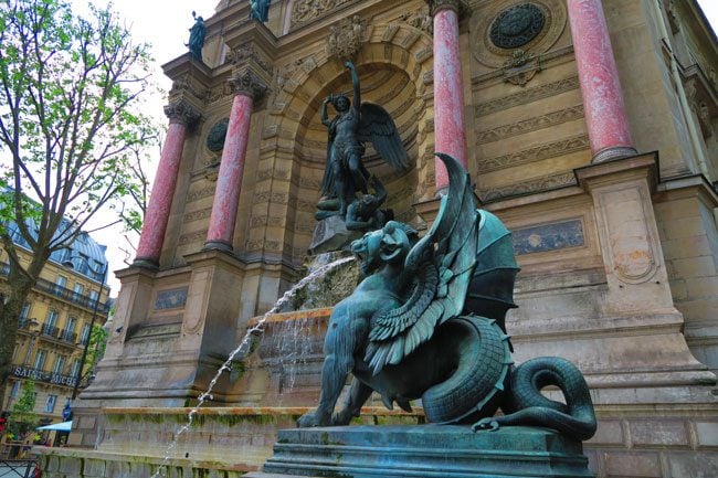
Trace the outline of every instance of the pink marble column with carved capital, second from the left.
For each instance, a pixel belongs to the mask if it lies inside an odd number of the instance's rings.
[[[249,71],[234,76],[230,83],[236,95],[226,127],[205,249],[232,251],[252,109],[254,99],[265,91],[265,86]]]

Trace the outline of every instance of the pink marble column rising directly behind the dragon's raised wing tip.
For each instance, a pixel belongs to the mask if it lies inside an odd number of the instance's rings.
[[[458,52],[458,0],[431,0],[434,15],[434,149],[468,167],[464,83]],[[436,158],[436,192],[448,187],[444,163]],[[467,168],[468,169],[468,168]]]

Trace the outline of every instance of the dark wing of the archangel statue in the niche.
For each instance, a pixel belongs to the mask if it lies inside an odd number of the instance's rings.
[[[409,168],[409,158],[401,142],[397,125],[381,106],[366,102],[361,104],[358,138],[360,141],[373,144],[381,159],[392,168]]]

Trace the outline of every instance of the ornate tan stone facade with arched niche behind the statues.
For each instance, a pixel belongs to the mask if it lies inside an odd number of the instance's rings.
[[[434,40],[446,26],[434,20],[451,10],[466,164],[483,206],[515,232],[522,268],[520,307],[507,320],[517,358],[560,354],[587,375],[600,425],[585,448],[598,476],[710,476],[718,467],[718,45],[705,18],[694,1],[531,0],[529,18],[514,22],[526,2],[429,3],[275,2],[262,24],[246,20],[249,2],[223,1],[205,22],[208,64],[186,54],[165,66],[175,82],[170,104],[182,100],[198,116],[182,139],[173,192],[161,198],[167,229],[156,262],[118,274],[116,332],[82,395],[88,416],[104,406],[193,403],[251,318],[300,277],[326,161],[319,107],[350,89],[337,55],[352,56],[362,100],[388,109],[412,161],[398,174],[369,148],[368,168],[397,216],[425,230],[439,204],[433,151],[444,118]],[[620,85],[611,95],[625,115],[614,128],[631,134],[620,140],[596,141],[605,118],[584,99],[581,32],[571,31],[571,15],[584,8],[605,19],[611,46],[600,60],[612,56],[617,79],[610,81]],[[237,88],[237,77],[250,79]],[[232,155],[208,147],[215,125],[240,114],[244,145]],[[230,171],[226,158],[241,167]],[[222,206],[229,216],[213,213],[215,196],[226,201],[218,174],[239,184],[231,208]],[[254,375],[220,381],[215,405],[287,404],[283,382],[253,360],[262,359],[247,359]],[[316,368],[309,375],[316,380]],[[304,404],[316,396],[309,385],[297,395]],[[93,445],[96,433],[72,437]]]

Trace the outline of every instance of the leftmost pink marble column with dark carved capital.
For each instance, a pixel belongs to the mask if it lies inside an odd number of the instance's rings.
[[[165,232],[169,222],[172,196],[177,185],[182,149],[188,126],[199,118],[199,114],[186,102],[179,100],[165,107],[169,117],[169,128],[160,155],[155,184],[147,204],[142,233],[137,246],[134,265],[157,267],[162,251]]]

